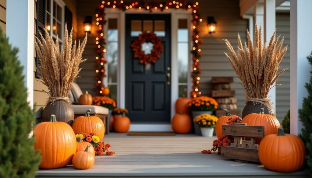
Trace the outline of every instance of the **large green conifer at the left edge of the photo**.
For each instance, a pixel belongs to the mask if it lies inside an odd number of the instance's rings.
[[[35,177],[41,161],[30,138],[35,124],[28,106],[23,67],[0,29],[0,177]]]

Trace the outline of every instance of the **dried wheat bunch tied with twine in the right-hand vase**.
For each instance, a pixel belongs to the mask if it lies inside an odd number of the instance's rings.
[[[247,42],[241,42],[238,34],[237,52],[228,40],[224,40],[231,57],[224,52],[230,61],[232,68],[243,82],[242,85],[246,92],[246,103],[252,101],[254,103],[271,104],[268,99],[268,93],[276,81],[276,79],[287,69],[281,70],[280,61],[284,57],[287,46],[282,49],[284,37],[278,43],[280,36],[275,39],[276,30],[274,31],[268,45],[266,42],[262,44],[261,26],[255,27],[254,43],[251,41],[249,31],[247,31]],[[280,84],[277,84],[280,85]],[[276,85],[275,85],[276,86]],[[273,86],[274,87],[274,86]]]

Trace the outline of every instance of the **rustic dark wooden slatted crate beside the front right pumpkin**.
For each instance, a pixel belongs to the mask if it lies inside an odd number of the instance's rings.
[[[247,126],[246,123],[222,125],[222,134],[234,136],[234,143],[221,146],[221,157],[237,162],[260,162],[256,137],[264,137],[264,126]],[[250,141],[244,140],[245,137],[250,137]]]

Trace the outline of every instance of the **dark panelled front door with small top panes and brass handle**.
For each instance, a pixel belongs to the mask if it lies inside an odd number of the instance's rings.
[[[132,123],[170,123],[170,15],[126,14],[125,101]],[[141,31],[161,37],[155,64],[140,64],[130,47]]]

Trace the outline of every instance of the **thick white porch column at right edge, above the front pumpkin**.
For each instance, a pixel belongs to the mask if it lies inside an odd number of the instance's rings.
[[[302,123],[298,109],[308,95],[304,85],[309,82],[311,65],[306,56],[312,50],[312,1],[290,1],[290,133],[299,134]]]

